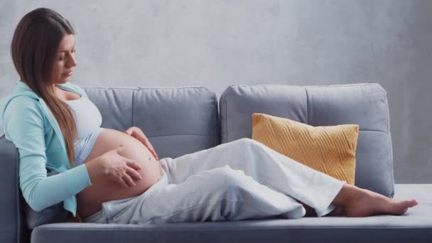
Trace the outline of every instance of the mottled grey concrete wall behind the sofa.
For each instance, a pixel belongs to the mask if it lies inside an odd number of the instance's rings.
[[[9,48],[40,6],[77,35],[82,86],[378,82],[387,90],[396,183],[432,183],[432,1],[0,1],[0,98]]]

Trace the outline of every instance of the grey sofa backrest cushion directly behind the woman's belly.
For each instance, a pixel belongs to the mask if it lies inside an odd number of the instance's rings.
[[[82,87],[102,114],[102,127],[138,126],[159,159],[220,144],[217,97],[206,87]]]

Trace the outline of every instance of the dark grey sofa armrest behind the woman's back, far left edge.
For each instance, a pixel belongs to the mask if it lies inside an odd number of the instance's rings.
[[[23,196],[19,189],[18,149],[0,136],[0,242],[28,242],[24,224]]]

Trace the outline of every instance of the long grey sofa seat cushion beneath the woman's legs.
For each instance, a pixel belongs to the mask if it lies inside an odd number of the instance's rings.
[[[32,243],[62,242],[430,242],[432,184],[396,184],[395,199],[418,200],[404,215],[164,225],[55,223],[33,229]]]

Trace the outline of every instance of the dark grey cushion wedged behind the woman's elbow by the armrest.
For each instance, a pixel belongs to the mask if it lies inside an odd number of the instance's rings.
[[[48,176],[58,174],[59,171],[50,171]],[[52,205],[50,207],[36,212],[24,201],[26,223],[28,229],[33,229],[39,225],[46,225],[55,222],[66,222],[68,220],[68,210],[63,208],[63,202]]]

